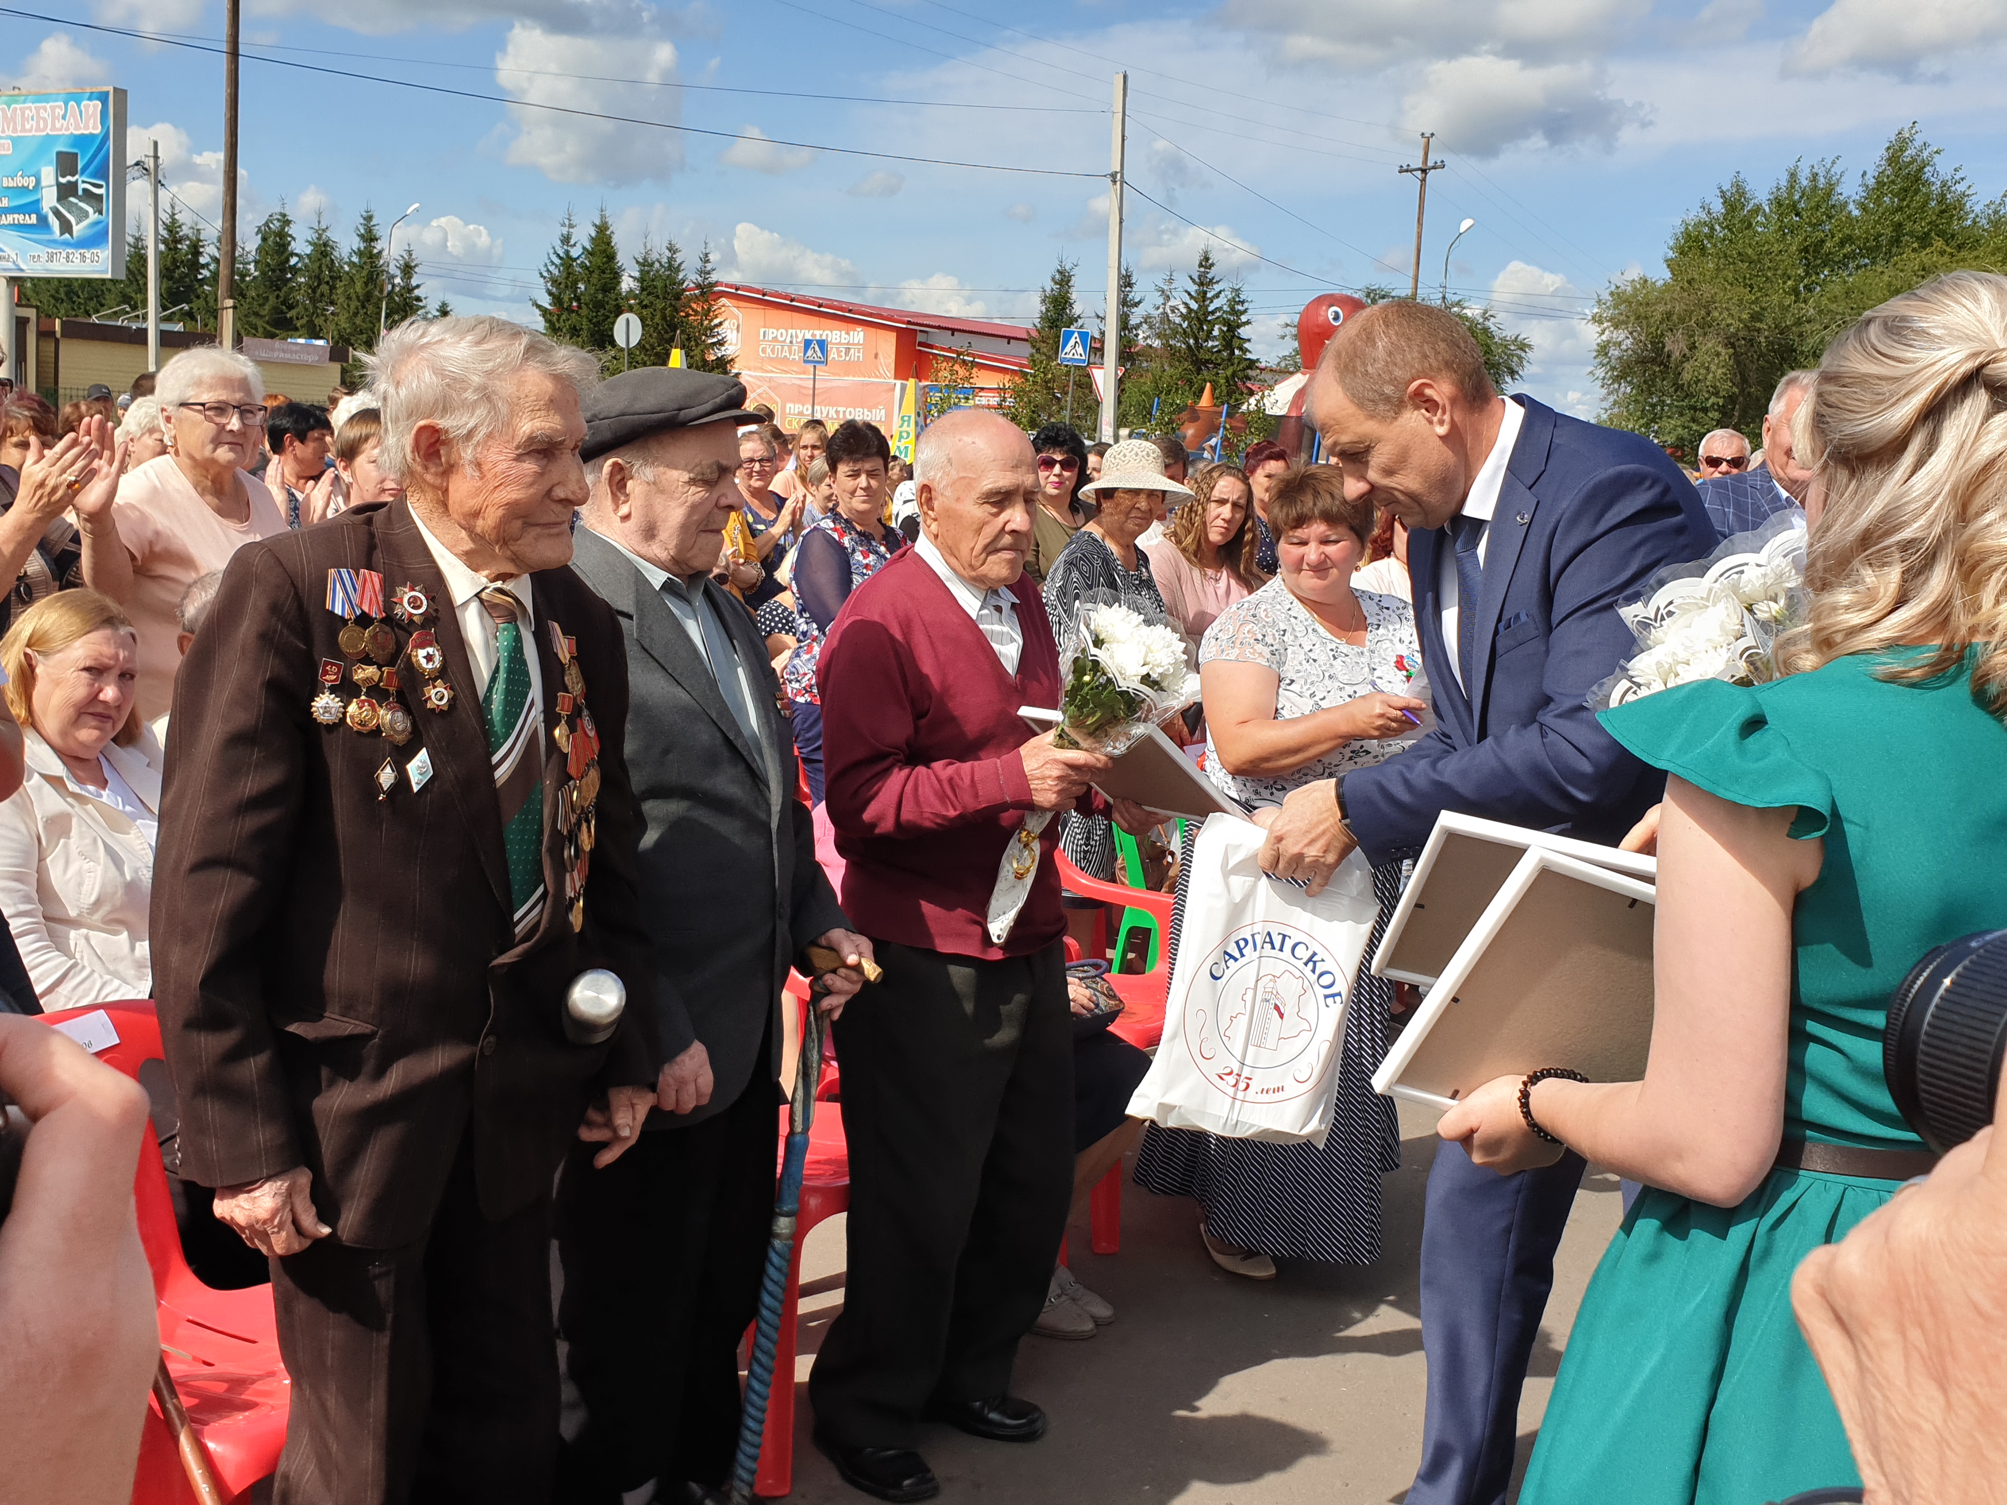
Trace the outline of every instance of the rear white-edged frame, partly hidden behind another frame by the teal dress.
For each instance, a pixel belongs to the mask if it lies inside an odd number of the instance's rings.
[[[1387,921],[1387,937],[1373,957],[1373,975],[1429,987],[1449,967],[1449,957],[1477,925],[1519,859],[1535,847],[1640,883],[1658,881],[1658,861],[1652,857],[1443,811],[1435,831],[1429,833],[1429,845],[1421,849],[1415,875],[1401,893],[1393,919]]]

